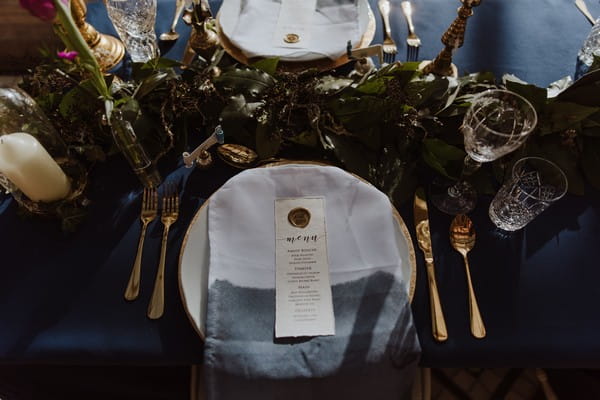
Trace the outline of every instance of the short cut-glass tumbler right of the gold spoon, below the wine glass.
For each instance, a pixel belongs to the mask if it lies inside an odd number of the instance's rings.
[[[563,197],[567,188],[567,177],[556,164],[539,157],[522,158],[492,200],[490,219],[505,231],[519,230]]]

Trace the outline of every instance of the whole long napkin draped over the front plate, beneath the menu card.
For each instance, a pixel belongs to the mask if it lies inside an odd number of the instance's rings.
[[[275,339],[274,201],[306,196],[325,198],[336,334]],[[208,212],[209,399],[408,396],[420,346],[384,194],[335,167],[258,168]]]

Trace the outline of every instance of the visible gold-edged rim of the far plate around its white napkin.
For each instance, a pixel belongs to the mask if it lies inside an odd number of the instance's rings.
[[[257,61],[262,60],[263,58],[261,58],[261,57],[252,57],[252,58],[246,57],[244,55],[244,53],[242,52],[242,50],[240,50],[233,43],[231,43],[231,41],[229,40],[227,35],[225,35],[223,30],[221,29],[221,24],[219,22],[220,15],[221,15],[220,12],[217,13],[217,18],[216,18],[217,35],[219,36],[219,41],[221,43],[221,47],[223,47],[225,52],[227,52],[227,54],[229,54],[231,57],[233,57],[236,61],[239,61],[240,63],[245,64],[245,65],[250,65]],[[363,34],[360,42],[354,46],[355,49],[369,46],[369,44],[371,44],[371,42],[373,41],[373,38],[375,37],[375,29],[377,28],[377,23],[375,22],[375,15],[373,14],[373,11],[371,10],[371,6],[368,3],[367,3],[367,15],[368,15],[368,19],[369,19],[369,22],[367,23],[367,28],[366,28],[365,33]],[[348,58],[348,56],[346,54],[344,54],[337,60],[331,60],[329,58],[320,58],[320,59],[311,60],[311,61],[297,61],[297,62],[280,61],[277,64],[277,69],[280,71],[283,71],[283,72],[300,72],[300,71],[304,71],[307,69],[313,69],[313,68],[318,69],[319,71],[329,71],[331,69],[342,66],[342,65],[348,63],[349,61],[350,61],[350,59]]]

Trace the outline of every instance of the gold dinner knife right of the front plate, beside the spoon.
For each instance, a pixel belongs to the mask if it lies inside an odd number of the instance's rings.
[[[417,189],[415,193],[415,229],[417,231],[417,242],[425,255],[427,267],[427,280],[429,281],[429,298],[431,304],[431,330],[433,337],[438,342],[448,339],[446,320],[442,311],[442,303],[435,281],[435,270],[433,268],[433,251],[431,248],[431,234],[429,232],[429,215],[427,214],[427,201],[423,188]]]

